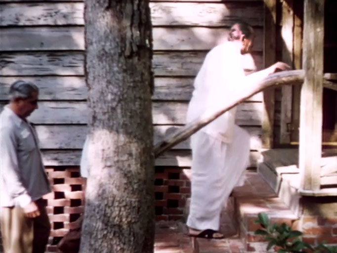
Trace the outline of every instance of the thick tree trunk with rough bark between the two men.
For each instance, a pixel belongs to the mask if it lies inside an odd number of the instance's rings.
[[[80,252],[150,253],[154,166],[149,2],[85,0],[84,18],[90,175]]]

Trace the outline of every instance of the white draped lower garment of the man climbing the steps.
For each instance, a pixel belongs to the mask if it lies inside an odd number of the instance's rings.
[[[220,212],[230,193],[244,182],[250,136],[236,125],[231,143],[198,131],[191,136],[191,147],[192,195],[187,226],[218,230]]]

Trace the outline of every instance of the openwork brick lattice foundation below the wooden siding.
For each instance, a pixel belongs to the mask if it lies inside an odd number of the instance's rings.
[[[78,167],[46,168],[53,192],[47,199],[51,233],[47,252],[56,245],[84,211],[85,179]],[[190,169],[158,167],[155,173],[156,220],[182,220],[186,199],[190,197]],[[188,173],[187,173],[188,174]]]

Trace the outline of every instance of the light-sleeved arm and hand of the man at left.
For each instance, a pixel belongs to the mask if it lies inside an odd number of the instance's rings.
[[[38,207],[29,196],[27,189],[20,179],[20,169],[16,147],[18,143],[14,131],[10,128],[2,128],[0,131],[0,168],[1,178],[9,195],[23,208],[27,217],[40,215]]]

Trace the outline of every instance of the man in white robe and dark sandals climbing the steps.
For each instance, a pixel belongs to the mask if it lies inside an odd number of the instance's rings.
[[[242,61],[251,49],[253,28],[238,22],[232,26],[228,40],[206,56],[194,81],[187,122],[224,108],[226,100],[240,94],[245,86],[289,67],[278,62],[246,77]],[[234,124],[235,114],[236,107],[191,136],[192,195],[187,220],[190,236],[223,238],[217,232],[220,212],[232,189],[243,183],[250,152],[250,136]]]

